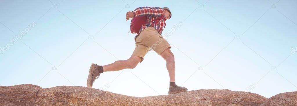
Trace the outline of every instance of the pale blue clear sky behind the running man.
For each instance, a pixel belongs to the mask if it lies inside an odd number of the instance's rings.
[[[267,98],[297,91],[296,5],[294,0],[2,0],[0,85],[86,86],[92,63],[131,56],[135,35],[127,35],[125,14],[149,6],[172,11],[162,34],[174,30],[166,39],[175,55],[177,85]],[[31,28],[31,23],[36,25]],[[27,33],[13,42],[20,30]],[[93,88],[137,97],[165,95],[165,64],[149,52],[135,69],[103,73]]]

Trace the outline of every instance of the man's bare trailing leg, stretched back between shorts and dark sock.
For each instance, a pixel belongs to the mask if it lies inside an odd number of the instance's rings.
[[[112,64],[102,66],[103,67],[103,72],[119,71],[119,70],[122,70],[122,69],[134,69],[141,60],[142,60],[141,57],[131,56],[127,60],[115,61]]]

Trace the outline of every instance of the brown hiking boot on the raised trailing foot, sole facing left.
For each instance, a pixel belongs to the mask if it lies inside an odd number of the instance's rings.
[[[99,77],[100,73],[97,64],[92,64],[90,67],[90,72],[87,80],[88,88],[92,88],[94,81]]]

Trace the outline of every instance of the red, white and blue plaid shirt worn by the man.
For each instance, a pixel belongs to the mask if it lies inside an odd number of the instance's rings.
[[[147,24],[144,24],[140,28],[139,32],[145,28],[152,26],[159,32],[159,34],[162,34],[163,26],[166,25],[165,16],[164,16],[164,19],[162,19],[162,20],[159,20],[159,21],[156,20],[154,22],[150,22],[150,21],[155,20],[155,19],[159,18],[161,15],[163,15],[165,12],[164,9],[162,9],[160,7],[138,7],[132,12],[134,13],[134,17],[148,15],[146,17]],[[148,22],[150,22],[150,23],[148,23]]]

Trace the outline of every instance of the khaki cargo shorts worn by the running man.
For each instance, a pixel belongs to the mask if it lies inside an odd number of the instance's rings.
[[[171,48],[169,43],[158,33],[154,27],[143,29],[135,40],[135,50],[132,56],[143,57],[149,52],[150,48],[160,55],[167,48]],[[141,62],[140,61],[140,62]]]

